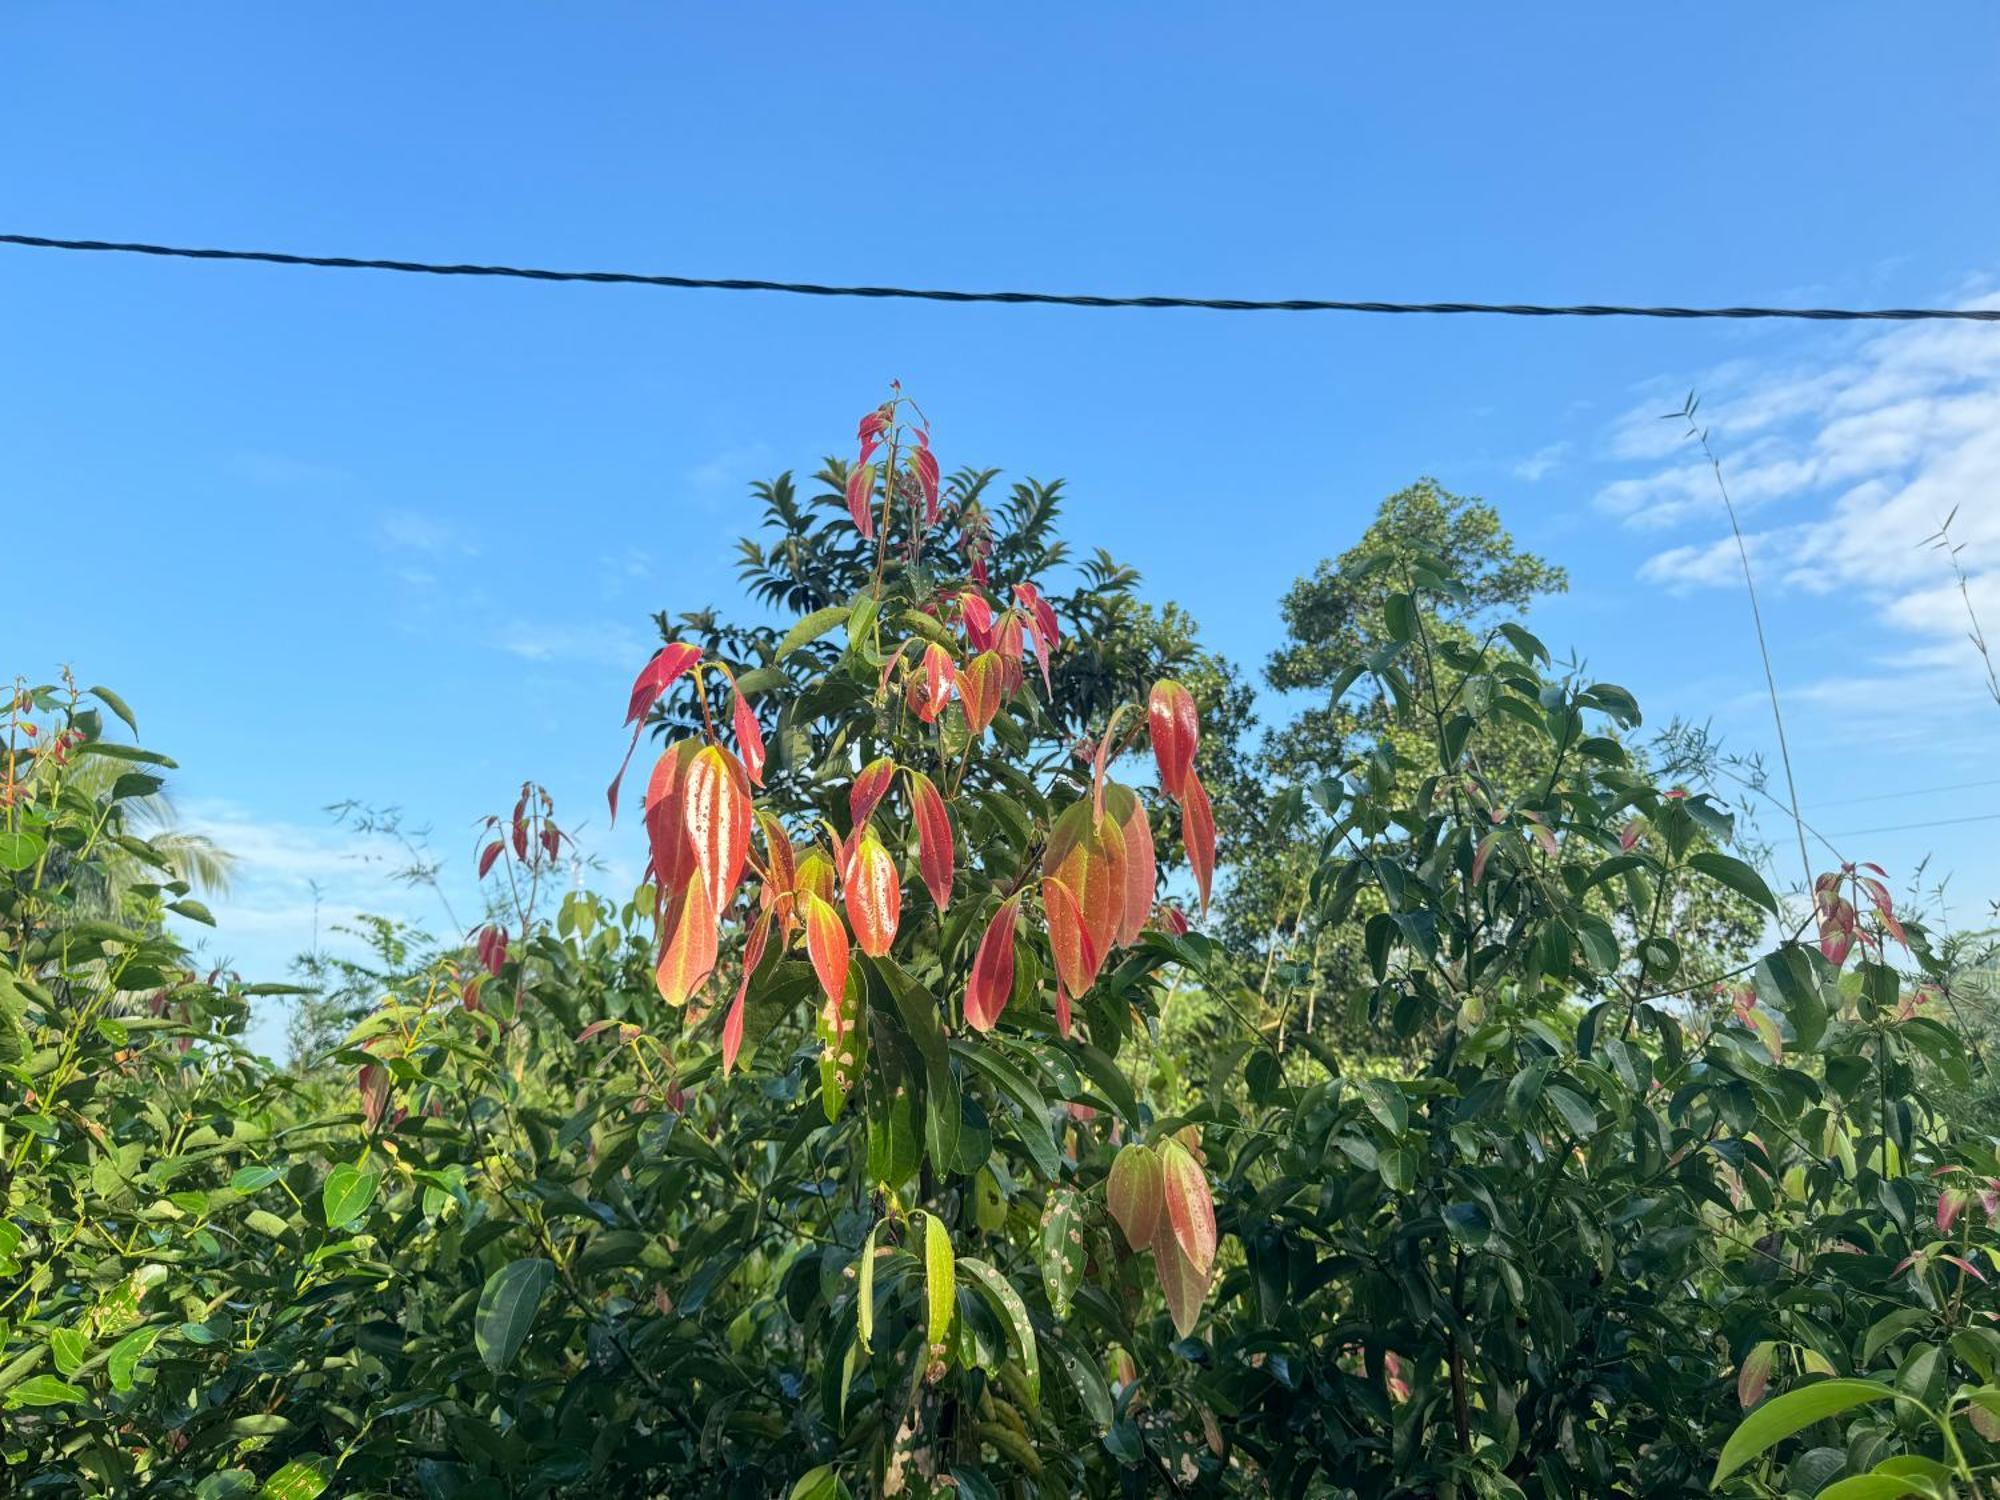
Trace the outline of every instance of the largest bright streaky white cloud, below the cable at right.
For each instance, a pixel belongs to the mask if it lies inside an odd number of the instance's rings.
[[[1850,624],[1866,622],[1854,636],[1866,660],[1794,694],[1836,710],[1964,706],[1982,676],[1966,598],[1924,538],[1956,512],[1972,606],[1990,636],[2000,630],[1996,330],[1898,326],[1814,368],[1736,360],[1708,372],[1700,394],[1696,420],[1722,460],[1758,586],[1828,596]],[[1642,468],[1604,484],[1596,506],[1634,530],[1680,534],[1640,566],[1644,582],[1742,588],[1716,476],[1686,422],[1660,418],[1676,404],[1664,384],[1646,386],[1610,424],[1604,452]]]

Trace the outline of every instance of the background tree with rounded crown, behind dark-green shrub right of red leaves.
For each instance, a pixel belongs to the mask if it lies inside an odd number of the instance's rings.
[[[1424,588],[1444,580],[1450,588]],[[1354,992],[1362,950],[1348,916],[1370,914],[1366,906],[1326,912],[1318,904],[1324,892],[1312,874],[1334,824],[1324,788],[1366,770],[1376,784],[1400,776],[1400,790],[1414,794],[1418,772],[1408,766],[1424,762],[1422,730],[1404,722],[1398,694],[1460,716],[1468,698],[1490,694],[1476,670],[1480,652],[1508,632],[1532,642],[1520,616],[1566,586],[1562,568],[1516,550],[1490,504],[1426,478],[1384,500],[1352,548],[1286,592],[1286,640],[1264,676],[1276,690],[1312,692],[1322,702],[1274,728],[1256,760],[1226,778],[1220,798],[1238,826],[1252,830],[1232,866],[1222,932],[1262,966],[1260,988],[1278,1002],[1280,1028],[1322,1028],[1360,1050],[1408,1052],[1418,1040],[1382,1024],[1392,1018],[1322,1004],[1322,996]],[[1408,646],[1412,632],[1424,638],[1422,654],[1406,654],[1396,672],[1368,672]],[[1538,642],[1534,650],[1546,660]],[[1578,672],[1572,668],[1570,680]],[[1610,734],[1644,764],[1648,752],[1634,728],[1636,706]],[[1540,724],[1502,722],[1482,736],[1470,774],[1490,806],[1506,808],[1552,784],[1562,752]],[[1710,834],[1726,840],[1730,824],[1712,800],[1702,796],[1696,806]],[[1682,912],[1680,942],[1698,938],[1686,960],[1726,970],[1758,938],[1760,918],[1726,894],[1704,890],[1688,900],[1702,908]]]

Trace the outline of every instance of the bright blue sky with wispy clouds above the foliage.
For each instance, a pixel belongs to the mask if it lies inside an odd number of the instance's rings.
[[[830,282],[1910,304],[2000,286],[1986,4],[208,4],[0,16],[4,230]],[[1808,816],[2000,814],[2000,328],[1074,312],[434,282],[0,250],[0,658],[120,688],[246,856],[274,974],[382,888],[322,806],[470,848],[522,776],[598,814],[648,614],[734,598],[746,486],[892,376],[946,466],[1256,664],[1418,474],[1564,562],[1540,630],[1770,746],[1698,386]],[[1986,782],[1984,786],[1964,786]],[[1954,788],[1908,794],[1918,788]],[[1862,800],[1872,798],[1872,800]],[[1766,830],[1776,832],[1766,818]],[[1952,910],[2000,818],[1840,838]],[[1782,870],[1790,874],[1790,866]],[[266,1028],[266,1034],[272,1034]]]

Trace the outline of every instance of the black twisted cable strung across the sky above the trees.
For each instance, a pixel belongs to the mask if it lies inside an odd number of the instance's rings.
[[[546,270],[540,266],[446,266],[428,260],[374,260],[356,256],[298,256],[282,250],[196,250],[176,244],[120,240],[52,240],[42,234],[0,234],[0,244],[30,250],[102,250],[126,256],[176,260],[254,260],[268,266],[320,266],[326,270],[396,270],[420,276],[502,276],[524,282],[598,282],[610,286],[670,286],[698,292],[788,292],[792,296],[858,296],[918,302],[1004,302],[1056,308],[1206,308],[1210,312],[1392,312],[1392,314],[1494,314],[1506,318],[1804,318],[1814,322],[2000,322],[2000,308],[1636,308],[1586,302],[1338,302],[1284,298],[1260,302],[1234,296],[1086,296],[1070,292],[954,292],[916,286],[826,286],[822,282],[764,282],[740,276],[652,276],[630,270]]]

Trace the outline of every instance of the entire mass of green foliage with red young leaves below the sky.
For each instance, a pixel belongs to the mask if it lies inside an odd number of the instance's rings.
[[[168,932],[172,762],[18,692],[14,1490],[1992,1492],[1990,948],[1868,868],[1782,910],[1484,508],[1404,492],[1294,590],[1324,706],[1254,758],[1130,570],[1020,588],[1054,486],[988,506],[880,416],[764,486],[774,622],[660,622],[648,886],[558,894],[522,788],[488,920],[332,972],[312,1068]]]

